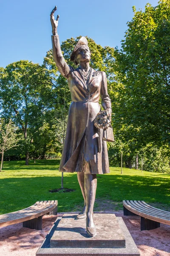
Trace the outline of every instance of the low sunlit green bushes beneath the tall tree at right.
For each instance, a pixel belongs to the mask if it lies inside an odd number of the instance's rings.
[[[121,151],[123,153],[123,167],[135,168],[136,154],[138,154],[138,169],[148,172],[170,173],[170,148],[169,145],[156,147],[152,143],[145,147],[133,148],[133,141],[122,143],[119,137],[116,137],[115,143],[108,143],[109,162],[112,166],[119,166],[121,163]],[[135,144],[136,146],[136,144]]]

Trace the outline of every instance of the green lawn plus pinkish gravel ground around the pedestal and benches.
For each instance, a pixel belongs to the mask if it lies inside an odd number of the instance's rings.
[[[79,211],[83,205],[77,175],[65,173],[64,187],[73,192],[49,192],[61,186],[59,160],[4,162],[0,173],[0,214],[26,208],[39,200],[58,200],[58,212]],[[138,216],[123,216],[122,200],[144,200],[170,211],[170,175],[111,167],[111,173],[98,175],[95,211],[111,211],[122,216],[141,256],[170,256],[170,226],[140,231]],[[23,228],[22,223],[0,229],[0,255],[33,256],[56,217],[43,217],[42,230]]]

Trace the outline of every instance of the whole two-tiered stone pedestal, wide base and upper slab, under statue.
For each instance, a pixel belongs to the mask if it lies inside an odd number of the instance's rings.
[[[140,256],[121,217],[94,214],[96,236],[86,234],[85,219],[64,214],[57,218],[37,256]]]

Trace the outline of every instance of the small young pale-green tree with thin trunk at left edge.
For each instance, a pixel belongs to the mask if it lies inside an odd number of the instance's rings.
[[[11,119],[8,123],[5,123],[3,118],[0,119],[0,154],[2,154],[0,172],[3,167],[4,152],[18,146],[19,138],[16,131],[17,128]]]

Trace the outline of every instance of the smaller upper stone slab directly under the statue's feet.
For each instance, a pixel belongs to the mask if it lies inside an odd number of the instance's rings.
[[[124,248],[125,237],[114,214],[94,214],[96,236],[86,234],[85,219],[76,220],[77,215],[64,214],[54,235],[50,247],[78,248]]]

